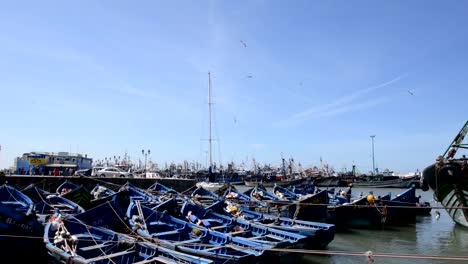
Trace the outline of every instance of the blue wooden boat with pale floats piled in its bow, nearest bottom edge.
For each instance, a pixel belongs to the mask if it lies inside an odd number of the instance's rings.
[[[44,229],[43,241],[55,262],[69,263],[190,263],[212,261],[152,243],[140,242],[110,229],[94,227],[76,218],[56,214]]]

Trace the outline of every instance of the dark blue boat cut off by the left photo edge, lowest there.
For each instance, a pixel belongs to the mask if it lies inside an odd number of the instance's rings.
[[[3,258],[18,262],[31,258],[47,259],[41,241],[44,226],[39,221],[33,201],[17,188],[0,186],[0,248]],[[27,254],[25,254],[27,252]]]

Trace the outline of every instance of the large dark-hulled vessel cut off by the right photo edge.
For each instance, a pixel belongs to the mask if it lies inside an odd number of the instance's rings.
[[[465,155],[455,158],[457,151],[468,149],[464,144],[468,121],[456,135],[445,153],[423,170],[421,189],[431,188],[453,221],[468,227],[468,160]]]

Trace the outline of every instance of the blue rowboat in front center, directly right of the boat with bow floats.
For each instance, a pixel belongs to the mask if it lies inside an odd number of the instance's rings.
[[[270,246],[228,236],[201,225],[158,212],[132,200],[127,211],[129,226],[141,237],[216,263],[251,262]]]

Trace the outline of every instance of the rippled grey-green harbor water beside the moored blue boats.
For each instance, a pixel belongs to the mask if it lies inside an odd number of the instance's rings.
[[[247,187],[236,186],[239,190]],[[322,188],[324,189],[324,188]],[[335,188],[338,190],[338,188]],[[392,197],[405,189],[395,188],[353,188],[353,195],[360,192],[368,194],[373,191],[375,196],[391,193]],[[441,207],[434,201],[431,190],[417,190],[421,201],[431,203],[433,207]],[[436,211],[440,217],[436,217]],[[468,263],[468,228],[456,225],[444,209],[434,208],[430,215],[418,216],[414,224],[402,227],[385,227],[379,230],[346,229],[339,230],[334,240],[324,250],[325,254],[294,253],[294,263],[372,263],[365,252],[374,255],[373,263]],[[388,257],[378,256],[388,254]],[[411,255],[405,257],[403,255]],[[441,259],[453,256],[466,256],[465,260]],[[287,258],[282,262],[289,263]]]

